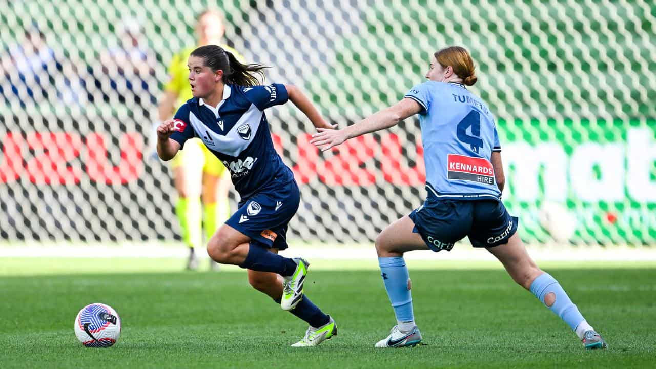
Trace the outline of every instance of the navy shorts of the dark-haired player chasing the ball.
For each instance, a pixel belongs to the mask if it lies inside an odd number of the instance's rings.
[[[287,224],[296,214],[300,192],[296,181],[272,186],[239,202],[226,224],[249,236],[251,243],[287,248]]]

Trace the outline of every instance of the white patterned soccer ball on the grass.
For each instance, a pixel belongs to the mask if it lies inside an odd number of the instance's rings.
[[[75,318],[75,336],[86,347],[110,347],[121,335],[121,318],[112,307],[92,303]]]

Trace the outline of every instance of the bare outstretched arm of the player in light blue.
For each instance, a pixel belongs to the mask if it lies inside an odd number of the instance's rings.
[[[329,150],[348,139],[392,127],[403,119],[421,112],[421,110],[422,108],[417,101],[411,98],[403,98],[400,102],[380,110],[354,125],[342,129],[318,128],[319,133],[312,135],[310,142],[315,144],[321,151]]]

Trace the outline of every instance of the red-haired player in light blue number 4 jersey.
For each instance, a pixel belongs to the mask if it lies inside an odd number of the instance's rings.
[[[516,234],[518,219],[501,203],[501,144],[487,105],[465,87],[477,80],[470,54],[457,46],[441,49],[431,58],[426,78],[428,82],[415,85],[394,106],[344,129],[319,129],[312,139],[325,151],[419,114],[428,198],[376,239],[383,283],[398,324],[375,346],[414,346],[422,340],[413,316],[403,253],[448,251],[468,236],[472,246],[487,248],[515,282],[560,316],[586,349],[604,349],[604,339],[586,322],[558,281],[529,257]]]

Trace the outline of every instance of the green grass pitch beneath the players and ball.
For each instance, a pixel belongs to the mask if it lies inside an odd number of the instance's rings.
[[[172,259],[0,259],[0,368],[649,368],[656,364],[656,264],[547,264],[609,342],[573,332],[491,263],[409,261],[420,347],[374,349],[394,325],[375,261],[317,261],[306,293],[338,336],[289,347],[306,324],[251,289],[245,272],[178,271]],[[73,334],[81,307],[123,320],[118,343]]]

